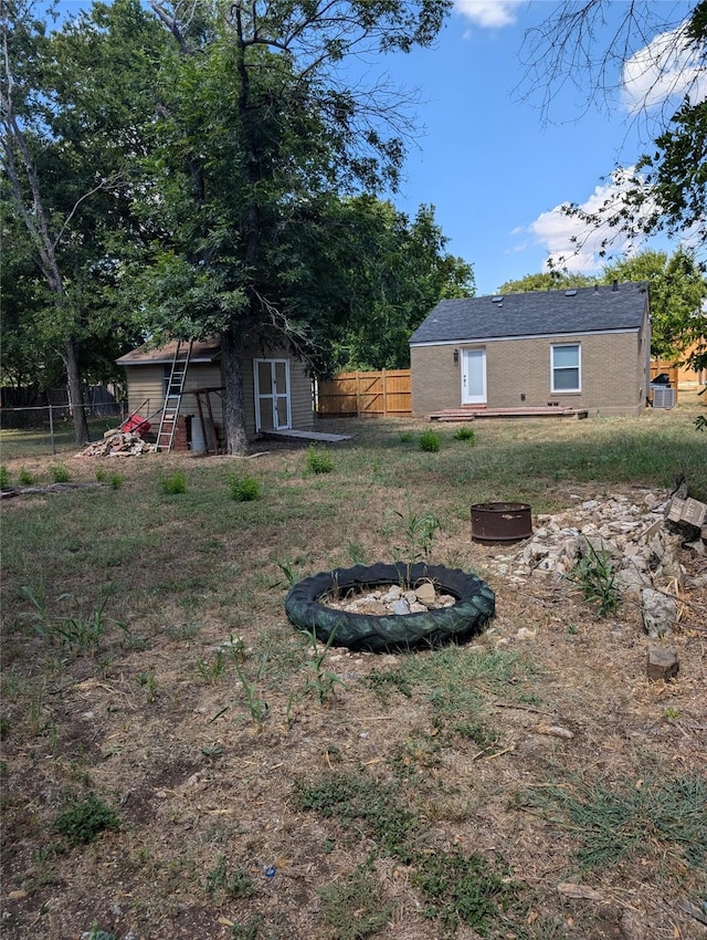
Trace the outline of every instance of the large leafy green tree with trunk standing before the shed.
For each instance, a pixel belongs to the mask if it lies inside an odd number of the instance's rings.
[[[137,194],[155,233],[140,289],[155,335],[219,334],[230,452],[246,447],[241,362],[273,331],[308,353],[339,333],[356,258],[342,196],[394,187],[404,108],[348,87],[355,52],[429,45],[446,0],[210,2],[151,0],[177,54],[160,70],[157,146]],[[388,132],[388,133],[387,133]],[[316,276],[315,276],[316,274]],[[137,281],[136,281],[137,283]]]

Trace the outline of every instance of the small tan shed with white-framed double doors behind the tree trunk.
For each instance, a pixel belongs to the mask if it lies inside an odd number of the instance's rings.
[[[182,344],[180,356],[186,354],[187,345]],[[126,373],[128,414],[138,412],[150,417],[152,425],[159,424],[176,352],[177,342],[160,348],[140,346],[116,361]],[[286,349],[260,344],[249,348],[243,361],[243,390],[249,438],[272,430],[312,428],[312,378],[304,363]],[[202,450],[204,438],[210,447],[223,443],[223,376],[218,340],[194,342],[179,417],[184,419],[179,422],[182,447]]]

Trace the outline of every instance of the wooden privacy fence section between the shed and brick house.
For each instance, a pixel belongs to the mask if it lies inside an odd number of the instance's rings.
[[[317,414],[329,418],[412,415],[410,369],[347,372],[321,379]]]

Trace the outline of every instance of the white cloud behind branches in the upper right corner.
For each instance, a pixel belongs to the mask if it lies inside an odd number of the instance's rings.
[[[690,45],[686,23],[657,35],[623,66],[621,85],[627,111],[654,108],[666,98],[689,95],[693,104],[707,97],[707,75],[700,59],[704,50]]]

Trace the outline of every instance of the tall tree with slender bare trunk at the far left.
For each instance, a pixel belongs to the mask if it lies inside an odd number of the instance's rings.
[[[23,275],[10,291],[15,306],[6,306],[17,342],[4,354],[11,365],[15,357],[15,372],[25,370],[24,354],[33,346],[34,377],[45,384],[61,357],[80,445],[88,439],[82,400],[87,364],[94,375],[105,374],[122,343],[135,336],[115,304],[116,257],[130,230],[127,166],[140,114],[126,76],[150,50],[149,23],[138,2],[96,4],[92,15],[92,29],[82,15],[50,30],[31,3],[4,3],[0,91],[9,206],[3,233],[12,231],[24,252],[21,257],[13,248],[12,263],[3,270],[6,284],[8,276]],[[109,29],[116,20],[130,23],[123,43]],[[154,30],[154,38],[160,35]],[[112,106],[106,87],[113,105],[123,102],[122,111]]]

